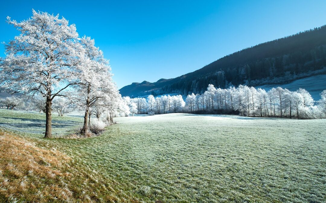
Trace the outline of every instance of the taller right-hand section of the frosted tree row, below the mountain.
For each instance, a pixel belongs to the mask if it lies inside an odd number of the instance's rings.
[[[326,90],[315,101],[305,89],[295,92],[281,87],[268,92],[261,88],[239,85],[238,88],[215,88],[210,84],[201,95],[191,94],[186,98],[190,112],[214,111],[230,113],[238,111],[241,116],[286,117],[302,119],[326,118]]]

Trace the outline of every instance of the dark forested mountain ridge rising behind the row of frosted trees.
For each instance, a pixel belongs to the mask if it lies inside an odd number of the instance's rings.
[[[120,89],[122,96],[203,93],[208,84],[258,86],[281,84],[326,74],[326,25],[258,44],[222,57],[205,67],[173,79],[134,82]]]

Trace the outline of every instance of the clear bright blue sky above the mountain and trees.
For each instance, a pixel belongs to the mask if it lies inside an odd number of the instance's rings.
[[[326,24],[324,0],[4,1],[1,42],[18,34],[6,17],[27,19],[32,8],[59,13],[81,36],[94,38],[119,88],[177,77],[243,48]]]

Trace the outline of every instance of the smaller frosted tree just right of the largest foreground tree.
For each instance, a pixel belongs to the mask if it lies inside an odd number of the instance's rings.
[[[83,61],[80,66],[80,81],[76,86],[77,94],[74,100],[84,112],[82,134],[89,128],[90,111],[97,106],[108,107],[117,95],[115,84],[112,81],[109,61],[103,56],[103,52],[95,46],[95,41],[90,37],[82,37]],[[111,112],[112,113],[112,112]],[[113,117],[112,117],[113,119]]]

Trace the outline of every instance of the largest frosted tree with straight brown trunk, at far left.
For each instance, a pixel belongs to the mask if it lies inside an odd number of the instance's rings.
[[[52,100],[79,82],[78,66],[82,47],[74,24],[33,10],[33,16],[17,22],[7,17],[20,35],[5,45],[6,58],[1,63],[3,84],[11,93],[42,95],[46,98],[45,137],[51,137]]]

